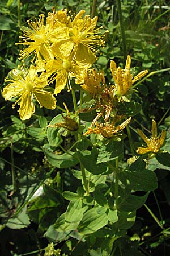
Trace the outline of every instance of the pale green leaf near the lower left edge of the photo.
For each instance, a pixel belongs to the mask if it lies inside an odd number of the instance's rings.
[[[24,207],[16,217],[10,218],[6,223],[6,226],[10,229],[26,228],[30,223],[26,209],[27,208]]]

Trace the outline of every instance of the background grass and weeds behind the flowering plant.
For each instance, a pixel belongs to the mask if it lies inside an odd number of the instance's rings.
[[[131,137],[134,141],[138,141],[135,129],[141,129],[142,126],[149,131],[151,119],[155,119],[160,128],[167,130],[165,149],[168,151],[170,150],[170,6],[168,1],[163,0],[124,0],[121,4],[126,43],[122,39],[117,2],[97,1],[95,15],[99,16],[98,26],[103,26],[103,31],[109,30],[109,34],[105,38],[106,46],[101,50],[102,55],[95,63],[95,67],[102,69],[105,77],[111,80],[110,60],[114,59],[116,63],[123,65],[124,55],[130,54],[135,73],[148,69],[147,78],[137,86],[139,93],[134,96],[134,100],[141,103],[142,109],[131,123]],[[46,15],[48,11],[52,11],[53,6],[58,10],[67,8],[73,13],[84,9],[87,14],[91,14],[92,1],[1,0],[1,88],[5,86],[4,79],[8,72],[20,64],[18,56],[22,46],[16,46],[15,43],[19,42],[19,31],[22,30],[22,26],[27,25],[28,19],[38,17],[41,13]],[[71,94],[66,90],[58,94],[57,104],[63,108],[65,97],[69,110],[73,109]],[[55,237],[56,233],[49,228],[67,208],[68,201],[62,196],[62,192],[76,192],[79,186],[79,180],[75,179],[69,167],[53,167],[42,151],[42,145],[47,142],[46,121],[50,122],[61,111],[39,108],[31,119],[23,122],[20,121],[17,110],[11,108],[11,102],[5,102],[1,97],[0,104],[0,254],[2,256],[44,255],[44,249],[50,242],[54,242],[56,252],[49,255],[169,255],[170,167],[168,164],[164,166],[156,159],[148,163],[150,170],[155,171],[159,185],[150,193],[146,204],[137,210],[134,225],[121,237],[121,246],[124,248],[122,254],[118,250],[114,254],[104,254],[95,242],[90,241],[94,237],[89,238],[88,253],[81,254],[85,250],[83,243],[77,243],[76,240],[71,248],[70,243],[71,239],[74,240],[74,235],[72,238],[62,240]],[[125,142],[129,145],[128,141]],[[66,137],[62,143],[63,147],[69,147],[71,137]],[[125,158],[129,158],[129,154],[129,149],[126,147]],[[32,196],[36,191],[40,192],[42,187],[43,196],[36,200],[36,204],[33,203],[34,201],[30,203],[30,200],[33,200]],[[131,241],[136,239],[133,246],[129,243],[129,237]],[[128,246],[134,249],[134,251],[131,249],[129,254]],[[62,251],[57,252],[57,249]]]

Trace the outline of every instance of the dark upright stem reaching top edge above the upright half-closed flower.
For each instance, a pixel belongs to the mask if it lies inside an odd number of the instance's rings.
[[[122,33],[123,51],[124,51],[124,65],[125,65],[126,57],[127,57],[127,46],[126,46],[126,36],[125,36],[124,23],[123,23],[123,17],[122,17],[121,0],[117,0],[117,10],[118,10],[118,18],[119,18],[121,33]]]

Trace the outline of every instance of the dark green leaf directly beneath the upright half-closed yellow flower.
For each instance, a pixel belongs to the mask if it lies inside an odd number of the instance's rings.
[[[137,115],[141,110],[141,104],[138,102],[120,102],[117,106],[118,112],[120,114],[124,114],[128,117],[133,117]]]

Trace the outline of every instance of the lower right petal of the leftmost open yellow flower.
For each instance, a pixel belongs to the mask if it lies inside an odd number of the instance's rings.
[[[37,102],[41,106],[44,106],[46,109],[55,109],[56,108],[56,98],[51,92],[35,92],[34,93]]]

